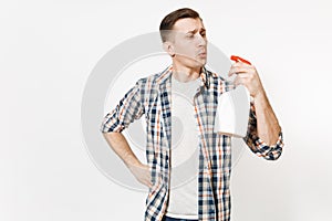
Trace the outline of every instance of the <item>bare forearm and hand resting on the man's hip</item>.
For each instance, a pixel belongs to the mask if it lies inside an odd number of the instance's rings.
[[[129,147],[126,138],[121,133],[103,133],[107,144],[115,151],[115,154],[124,161],[135,178],[143,185],[152,187],[149,167],[142,164],[132,148]]]

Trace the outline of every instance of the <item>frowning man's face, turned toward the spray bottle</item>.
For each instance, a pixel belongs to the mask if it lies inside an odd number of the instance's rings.
[[[206,30],[199,18],[180,19],[173,27],[173,59],[188,67],[201,67],[207,61]]]

